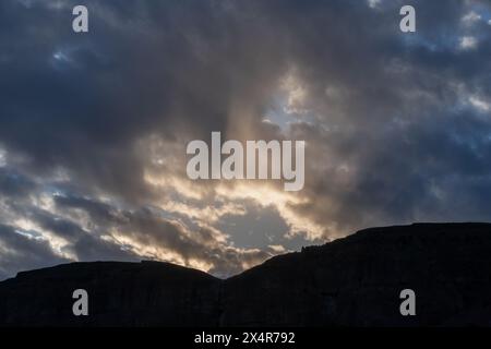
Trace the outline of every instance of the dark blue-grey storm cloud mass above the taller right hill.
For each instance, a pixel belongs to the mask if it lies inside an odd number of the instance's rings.
[[[396,13],[398,3],[385,3],[381,11]],[[367,21],[352,21],[347,11],[348,19],[337,15],[319,33],[331,45],[306,50],[298,67],[308,105],[327,131],[296,127],[297,137],[310,140],[312,167],[325,159],[323,171],[307,172],[315,201],[297,208],[333,225],[330,233],[381,222],[489,220],[489,204],[472,190],[491,185],[489,111],[460,104],[472,93],[489,98],[491,31],[481,21],[477,48],[459,48],[462,36],[476,34],[462,27],[472,9],[464,4],[416,2],[411,39],[390,29],[391,16],[364,13]],[[355,28],[332,31],[339,22]],[[348,173],[336,167],[344,164]]]

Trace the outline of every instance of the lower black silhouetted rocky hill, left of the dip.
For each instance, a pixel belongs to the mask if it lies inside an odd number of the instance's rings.
[[[0,282],[3,326],[214,326],[220,280],[168,263],[73,263]],[[88,293],[74,316],[72,293]]]

